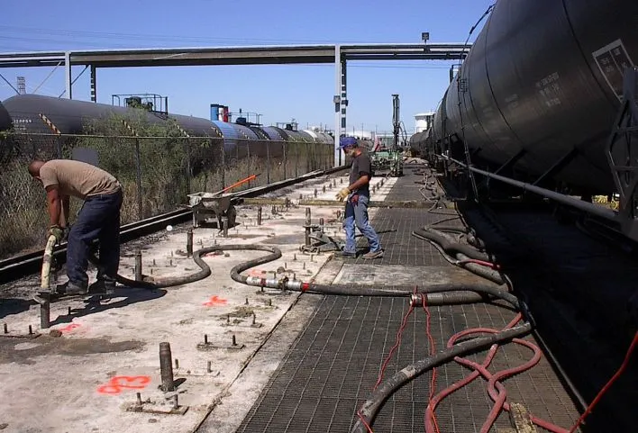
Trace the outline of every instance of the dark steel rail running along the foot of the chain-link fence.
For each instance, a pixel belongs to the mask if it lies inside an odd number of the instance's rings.
[[[316,170],[303,176],[298,176],[292,179],[274,182],[269,185],[257,186],[251,189],[247,189],[233,194],[233,196],[238,199],[257,197],[289,185],[296,185],[315,177],[337,173],[346,168],[347,167],[342,166],[330,168],[328,170]],[[162,213],[145,220],[125,224],[120,230],[120,241],[124,243],[134,239],[139,239],[142,236],[163,230],[169,224],[173,225],[186,222],[192,218],[192,215],[193,212],[189,209],[178,209],[176,211]],[[66,253],[67,243],[63,242],[54,250],[53,257],[55,257],[57,263],[61,264],[64,263],[66,259]],[[44,249],[38,249],[37,251],[32,251],[20,256],[9,257],[5,260],[0,261],[0,284],[5,284],[22,278],[23,276],[40,272],[43,254]]]

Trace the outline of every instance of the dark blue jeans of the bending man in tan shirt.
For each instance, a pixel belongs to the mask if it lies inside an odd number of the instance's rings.
[[[91,243],[99,239],[100,265],[97,279],[115,281],[120,266],[120,208],[122,191],[87,197],[68,233],[68,281],[79,286],[88,284],[88,252]]]

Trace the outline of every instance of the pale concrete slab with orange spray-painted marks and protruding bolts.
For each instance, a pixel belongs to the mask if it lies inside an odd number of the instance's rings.
[[[328,183],[326,177],[316,185],[322,188]],[[298,194],[293,192],[291,198]],[[341,208],[342,203],[337,202],[334,207],[313,208],[313,222],[334,219]],[[215,243],[268,242],[278,246],[283,257],[246,274],[283,270],[304,281],[314,278],[329,255],[311,259],[299,252],[304,242],[305,208],[264,212],[260,226],[256,215],[256,206],[240,206],[240,224],[229,230],[225,239],[216,228],[196,229],[194,249]],[[326,227],[342,231],[339,221]],[[199,270],[191,258],[183,256],[186,228],[176,228],[166,233],[165,240],[141,246],[144,274],[168,277]],[[58,338],[48,335],[49,329],[39,329],[36,306],[7,316],[10,329],[26,330],[32,325],[43,335],[0,338],[3,433],[192,431],[211,408],[235,393],[241,395],[237,386],[249,386],[237,383],[239,375],[299,296],[232,281],[232,266],[265,254],[229,251],[227,255],[209,255],[204,259],[212,275],[192,284],[154,292],[119,288],[112,299],[101,302],[73,298],[52,303],[51,329],[61,333]],[[120,273],[131,277],[133,264],[134,251],[124,248]],[[252,326],[253,313],[256,326]],[[208,345],[204,346],[205,336]],[[232,336],[237,346],[232,346]],[[187,408],[183,414],[170,413],[173,402],[159,389],[160,342],[170,343],[174,375],[180,382],[178,407]],[[264,371],[273,371],[278,365],[278,357],[260,359],[266,363]],[[259,394],[258,385],[254,384],[253,395]],[[141,393],[142,410],[153,413],[126,410],[134,406],[136,392]]]

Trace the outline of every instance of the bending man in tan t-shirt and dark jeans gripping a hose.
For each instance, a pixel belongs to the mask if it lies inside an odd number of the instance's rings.
[[[68,198],[84,200],[77,221],[68,232],[68,282],[58,284],[59,294],[110,293],[120,265],[120,208],[122,185],[114,176],[85,162],[52,159],[34,160],[29,165],[32,177],[41,181],[47,192],[50,227],[47,238],[59,242],[68,228]],[[88,252],[99,239],[100,266],[97,281],[88,287]]]

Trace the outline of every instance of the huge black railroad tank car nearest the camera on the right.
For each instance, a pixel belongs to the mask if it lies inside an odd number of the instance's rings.
[[[553,180],[613,192],[605,145],[624,68],[638,61],[636,28],[635,0],[499,0],[437,109],[430,146],[450,137],[459,155],[465,140],[472,162],[492,167],[520,157],[516,171],[531,180],[562,160]]]

